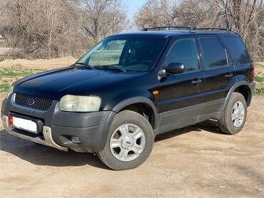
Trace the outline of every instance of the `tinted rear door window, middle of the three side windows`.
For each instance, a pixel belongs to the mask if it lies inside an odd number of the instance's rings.
[[[217,38],[199,38],[203,51],[205,69],[217,68],[227,64],[225,50]]]

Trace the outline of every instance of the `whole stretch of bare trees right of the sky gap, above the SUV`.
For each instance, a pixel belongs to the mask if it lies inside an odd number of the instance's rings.
[[[164,25],[228,27],[240,33],[255,61],[264,61],[263,0],[148,0],[134,16],[138,28]]]

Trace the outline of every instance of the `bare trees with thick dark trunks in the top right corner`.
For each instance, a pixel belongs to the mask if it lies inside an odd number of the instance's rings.
[[[240,33],[251,56],[264,61],[263,0],[216,0],[225,26]]]

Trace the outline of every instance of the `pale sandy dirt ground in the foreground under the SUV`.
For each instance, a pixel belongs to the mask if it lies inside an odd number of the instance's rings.
[[[213,121],[156,137],[134,170],[108,170],[96,156],[61,152],[0,132],[1,197],[264,197],[264,98],[238,135]]]

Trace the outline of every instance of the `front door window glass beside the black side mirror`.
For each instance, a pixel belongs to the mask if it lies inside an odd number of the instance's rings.
[[[165,65],[169,63],[183,63],[186,71],[197,71],[198,61],[195,39],[182,39],[176,41],[168,52]]]

